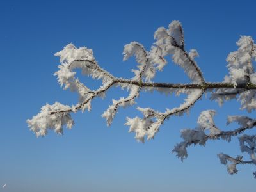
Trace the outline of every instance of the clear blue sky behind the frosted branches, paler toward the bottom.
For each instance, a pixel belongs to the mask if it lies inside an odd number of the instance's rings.
[[[58,69],[53,55],[63,46],[90,47],[102,67],[115,76],[132,77],[136,63],[122,62],[123,46],[138,41],[150,49],[154,31],[172,20],[184,26],[186,49],[198,50],[205,79],[222,81],[225,58],[236,50],[239,35],[256,38],[255,6],[255,1],[1,1],[0,186],[7,186],[0,191],[254,191],[255,166],[239,166],[239,174],[230,176],[216,157],[219,152],[241,154],[236,138],[190,147],[183,163],[171,153],[181,141],[180,129],[195,127],[204,109],[218,111],[221,129],[236,128],[226,127],[225,119],[246,114],[237,102],[219,108],[204,97],[191,115],[171,118],[145,144],[123,125],[125,116],[138,115],[134,108],[121,109],[110,128],[100,117],[112,98],[127,94],[118,89],[94,100],[91,113],[73,115],[76,125],[63,136],[50,132],[36,138],[26,119],[46,102],[76,103],[77,95],[62,90],[53,76]],[[83,81],[92,88],[99,85],[88,77]],[[188,78],[169,63],[156,81],[184,83]],[[179,101],[141,93],[138,106],[164,109]]]

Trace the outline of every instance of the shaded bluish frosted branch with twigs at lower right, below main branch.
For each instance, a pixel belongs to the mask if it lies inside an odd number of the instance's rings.
[[[176,156],[179,157],[181,161],[188,157],[187,148],[192,144],[204,146],[207,140],[216,140],[220,138],[230,142],[231,137],[237,136],[238,134],[241,134],[242,132],[256,126],[256,120],[248,118],[247,116],[228,116],[227,124],[237,122],[237,124],[240,124],[241,127],[232,131],[221,131],[218,127],[216,127],[213,120],[215,113],[216,111],[214,110],[202,111],[198,117],[198,127],[195,129],[181,130],[181,137],[184,139],[184,141],[175,145],[175,148],[172,150],[172,152],[175,152]],[[207,134],[207,131],[209,134]],[[228,173],[231,175],[237,173],[237,164],[256,164],[256,136],[248,136],[244,134],[243,136],[239,137],[239,141],[241,152],[247,152],[251,157],[251,161],[242,161],[243,156],[233,158],[227,154],[218,154],[222,164],[227,164],[227,161],[232,162],[232,164],[227,165]],[[245,143],[248,143],[248,145],[245,145]]]

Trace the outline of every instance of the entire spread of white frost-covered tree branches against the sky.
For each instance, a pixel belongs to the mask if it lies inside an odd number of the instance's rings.
[[[106,119],[108,126],[113,122],[118,108],[134,105],[142,90],[186,95],[184,102],[175,108],[156,111],[149,107],[137,107],[136,109],[142,113],[142,117],[127,117],[125,125],[129,126],[129,132],[134,132],[136,140],[141,142],[154,138],[159,132],[161,124],[171,116],[182,116],[187,113],[205,92],[209,92],[211,100],[216,100],[220,105],[225,100],[237,99],[241,102],[241,109],[246,109],[249,113],[256,109],[256,73],[253,67],[253,62],[256,59],[256,45],[252,37],[240,37],[237,42],[237,51],[231,52],[227,57],[229,74],[220,83],[205,81],[195,60],[198,57],[198,52],[195,49],[190,51],[185,49],[184,31],[179,21],[171,22],[167,29],[158,28],[154,33],[154,39],[156,42],[150,51],[147,51],[138,42],[131,42],[124,46],[124,61],[134,56],[138,63],[137,68],[132,70],[134,77],[131,79],[115,77],[101,68],[93,56],[92,49],[87,47],[76,48],[75,45],[68,44],[62,51],[57,52],[55,56],[60,57],[60,65],[55,76],[63,89],[70,89],[72,92],[78,93],[79,102],[73,106],[58,102],[52,105],[46,104],[41,108],[40,113],[27,120],[31,131],[35,132],[36,136],[45,136],[49,129],[63,134],[64,126],[71,129],[74,125],[71,113],[86,109],[90,111],[92,99],[104,97],[106,91],[113,86],[120,86],[128,90],[129,95],[118,100],[113,99],[112,104],[104,111],[102,117]],[[191,79],[191,83],[154,83],[156,72],[163,70],[168,63],[168,57],[171,57],[173,63],[184,69]],[[90,90],[76,77],[75,70],[77,69],[81,70],[85,76],[100,79],[102,85],[97,90]],[[242,134],[248,129],[253,129],[256,120],[247,116],[228,116],[227,124],[236,122],[240,127],[230,131],[221,131],[214,122],[215,113],[214,110],[202,111],[195,129],[182,129],[183,141],[175,145],[172,152],[183,161],[188,157],[187,148],[192,144],[205,145],[208,140],[217,139],[230,141],[232,137],[239,135],[241,152],[248,154],[250,159],[244,160],[243,156],[231,157],[221,153],[218,154],[221,164],[227,166],[230,174],[238,172],[237,164],[256,165],[256,136]],[[253,175],[256,177],[256,172],[253,172]]]

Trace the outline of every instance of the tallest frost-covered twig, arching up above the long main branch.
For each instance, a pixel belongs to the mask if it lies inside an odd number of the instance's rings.
[[[196,56],[199,56],[198,52],[195,49],[191,49],[188,53],[184,49],[184,33],[179,21],[171,22],[169,29],[163,27],[158,28],[154,37],[157,41],[155,43],[156,47],[152,47],[151,55],[155,54],[158,56],[154,61],[160,63],[158,64],[160,69],[166,64],[166,62],[163,64],[161,58],[164,58],[164,56],[168,54],[172,54],[173,62],[184,68],[184,71],[193,82],[200,84],[205,83],[203,74],[194,60]]]

